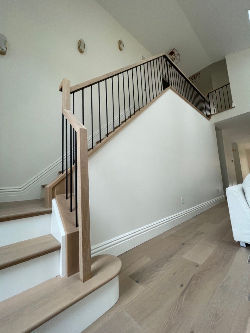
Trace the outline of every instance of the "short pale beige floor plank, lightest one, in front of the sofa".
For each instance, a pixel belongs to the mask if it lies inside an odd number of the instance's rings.
[[[203,264],[215,248],[215,244],[209,243],[206,239],[201,239],[186,254],[183,255],[183,258],[192,260],[198,264]]]

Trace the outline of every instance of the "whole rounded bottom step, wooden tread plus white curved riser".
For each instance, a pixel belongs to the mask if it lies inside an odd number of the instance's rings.
[[[0,333],[81,333],[119,298],[121,260],[91,258],[92,278],[55,277],[0,303]]]

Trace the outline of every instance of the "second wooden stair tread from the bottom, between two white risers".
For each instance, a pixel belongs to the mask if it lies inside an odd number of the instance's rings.
[[[0,247],[0,269],[59,250],[61,243],[51,234]]]

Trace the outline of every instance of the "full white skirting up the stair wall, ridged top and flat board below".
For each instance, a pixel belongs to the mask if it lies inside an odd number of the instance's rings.
[[[138,108],[135,107],[135,110]],[[126,109],[126,117],[134,112],[134,105]],[[122,122],[125,117],[124,111],[120,112],[120,121]],[[115,126],[119,125],[119,115],[114,118]],[[108,122],[108,132],[113,130],[113,119]],[[101,127],[101,138],[105,137],[107,133],[106,125]],[[99,140],[99,130],[93,133],[93,145]],[[88,137],[88,148],[92,145],[92,136]],[[68,165],[69,165],[69,154],[68,153]],[[64,155],[64,162],[66,160],[66,155]],[[58,176],[58,171],[61,170],[62,159],[59,158],[51,165],[43,169],[41,172],[36,174],[34,177],[26,181],[21,186],[10,186],[10,187],[0,187],[0,202],[7,201],[18,201],[18,200],[29,200],[29,199],[39,199],[43,197],[42,184],[48,184],[50,181]]]

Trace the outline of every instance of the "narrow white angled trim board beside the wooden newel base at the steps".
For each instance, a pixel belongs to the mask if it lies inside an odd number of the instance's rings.
[[[52,213],[51,213],[51,234],[60,243],[60,276],[66,275],[66,235],[63,228],[61,216],[56,204],[56,199],[52,200]]]

